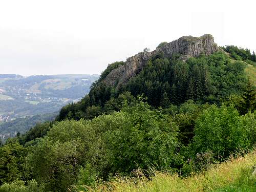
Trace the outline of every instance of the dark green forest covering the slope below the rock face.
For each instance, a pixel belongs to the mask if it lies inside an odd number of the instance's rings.
[[[116,67],[117,64],[114,64]],[[242,61],[232,61],[222,52],[190,58],[186,62],[181,61],[178,55],[164,58],[163,54],[159,54],[123,86],[110,87],[102,81],[93,83],[89,95],[76,104],[62,108],[57,120],[91,119],[112,112],[106,110],[106,103],[118,98],[124,91],[135,97],[144,94],[148,103],[155,107],[165,108],[170,103],[179,105],[189,99],[220,104],[221,98],[243,93],[248,82],[245,67]],[[110,69],[107,69],[102,75],[109,72]],[[102,75],[100,79],[105,76]]]

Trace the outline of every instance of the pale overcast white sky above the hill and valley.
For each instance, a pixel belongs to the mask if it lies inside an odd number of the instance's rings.
[[[0,74],[100,74],[184,35],[256,52],[256,2],[0,1]]]

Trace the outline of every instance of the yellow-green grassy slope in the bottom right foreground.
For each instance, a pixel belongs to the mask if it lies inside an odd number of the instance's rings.
[[[140,180],[135,184],[131,180],[118,180],[97,191],[256,191],[256,176],[252,176],[255,164],[256,151],[185,179],[156,173],[150,181]]]

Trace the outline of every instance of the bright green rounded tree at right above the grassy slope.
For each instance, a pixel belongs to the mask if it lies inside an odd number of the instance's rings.
[[[210,106],[196,120],[193,148],[195,154],[212,151],[226,158],[240,147],[246,147],[248,138],[242,126],[242,117],[233,106]]]

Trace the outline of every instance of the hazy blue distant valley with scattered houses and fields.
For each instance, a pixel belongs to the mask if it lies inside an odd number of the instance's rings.
[[[99,75],[0,74],[0,139],[25,133],[22,121],[52,120],[63,105],[77,102]],[[26,123],[25,123],[26,124]],[[19,125],[19,126],[17,126]]]

